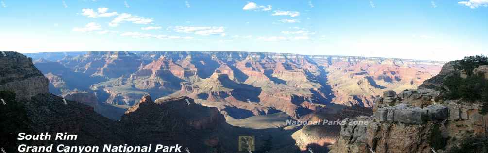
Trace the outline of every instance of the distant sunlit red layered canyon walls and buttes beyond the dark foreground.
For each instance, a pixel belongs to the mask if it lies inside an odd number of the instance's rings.
[[[140,97],[188,96],[228,117],[285,112],[300,118],[331,104],[371,107],[385,90],[416,88],[444,62],[283,53],[102,51],[26,54],[58,95],[92,92],[128,108]],[[315,105],[314,105],[315,104]]]

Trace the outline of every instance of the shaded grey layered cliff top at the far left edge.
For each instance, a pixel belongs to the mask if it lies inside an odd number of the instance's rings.
[[[32,59],[16,52],[0,55],[0,90],[14,91],[17,100],[48,92],[48,80],[33,64]]]

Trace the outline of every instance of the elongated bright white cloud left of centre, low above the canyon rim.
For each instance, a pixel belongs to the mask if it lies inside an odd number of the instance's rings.
[[[220,26],[175,26],[174,31],[194,33],[202,36],[221,35],[225,36],[224,27]]]

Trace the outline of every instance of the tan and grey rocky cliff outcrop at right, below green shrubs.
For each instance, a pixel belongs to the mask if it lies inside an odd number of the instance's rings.
[[[331,153],[444,153],[461,140],[485,135],[488,115],[479,113],[479,104],[445,99],[443,91],[427,89],[441,88],[444,78],[454,71],[449,62],[419,89],[399,94],[385,91],[375,100],[373,116],[345,120],[371,122],[341,126]]]

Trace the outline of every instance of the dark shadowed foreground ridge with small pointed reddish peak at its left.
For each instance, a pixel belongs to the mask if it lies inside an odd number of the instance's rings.
[[[121,118],[129,131],[131,144],[183,144],[198,151],[206,151],[218,144],[218,139],[199,137],[199,130],[212,130],[225,123],[215,108],[195,104],[188,97],[171,97],[152,101],[144,95],[140,102],[128,109]],[[202,134],[202,133],[200,133]],[[217,141],[217,142],[215,142]]]

